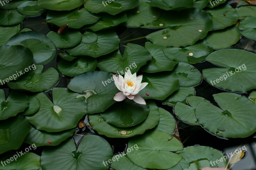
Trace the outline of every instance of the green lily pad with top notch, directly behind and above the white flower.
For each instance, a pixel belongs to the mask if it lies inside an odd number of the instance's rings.
[[[140,56],[140,57],[138,57]],[[98,67],[101,71],[108,71],[124,75],[125,71],[131,70],[132,74],[139,71],[140,67],[145,65],[152,57],[144,47],[128,43],[124,55],[120,51],[103,56],[98,59]],[[128,69],[127,69],[128,68]]]

